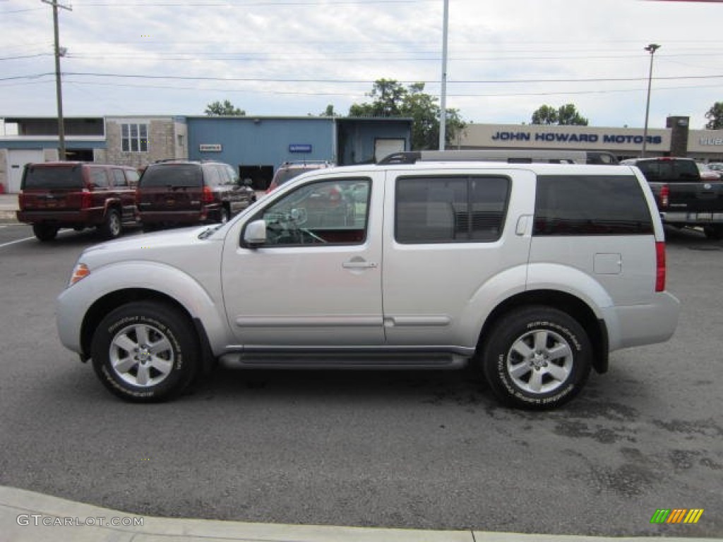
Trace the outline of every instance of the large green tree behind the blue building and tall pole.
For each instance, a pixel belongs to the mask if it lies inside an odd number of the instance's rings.
[[[377,79],[367,96],[375,100],[352,104],[349,116],[408,117],[412,119],[412,149],[438,147],[441,110],[437,98],[424,92],[424,83],[412,83],[405,88],[394,79]],[[457,109],[447,110],[446,125],[445,142],[453,141],[466,126]]]

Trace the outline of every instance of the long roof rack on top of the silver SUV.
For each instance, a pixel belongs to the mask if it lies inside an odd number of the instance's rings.
[[[417,162],[506,162],[617,164],[610,152],[586,150],[413,150],[393,152],[377,164],[414,164]]]

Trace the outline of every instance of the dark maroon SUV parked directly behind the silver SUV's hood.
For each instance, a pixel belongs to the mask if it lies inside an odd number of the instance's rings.
[[[160,225],[226,223],[256,200],[231,165],[165,160],[147,166],[136,191],[145,230]]]

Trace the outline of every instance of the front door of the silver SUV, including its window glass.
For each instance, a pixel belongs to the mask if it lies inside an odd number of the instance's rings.
[[[382,180],[376,171],[320,176],[270,198],[231,228],[223,253],[223,298],[239,344],[384,343]],[[247,248],[240,239],[254,220],[265,220],[267,241]]]

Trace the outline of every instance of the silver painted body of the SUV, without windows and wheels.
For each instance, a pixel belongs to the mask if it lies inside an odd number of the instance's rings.
[[[509,178],[500,238],[458,244],[396,241],[396,181],[411,172]],[[533,236],[537,176],[576,173],[636,176],[653,235]],[[363,242],[244,244],[244,231],[264,208],[305,184],[347,178],[369,183]],[[124,291],[146,291],[182,306],[205,331],[213,356],[242,364],[456,366],[473,356],[497,307],[523,293],[555,291],[589,307],[612,351],[662,342],[675,331],[679,303],[655,288],[656,242],[663,240],[650,189],[628,166],[329,168],[289,181],[213,232],[191,228],[87,249],[78,261],[89,273],[59,296],[57,324],[61,342],[88,358],[82,337],[98,323],[93,307],[111,296],[122,298]]]

